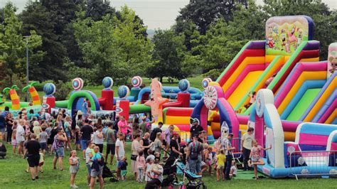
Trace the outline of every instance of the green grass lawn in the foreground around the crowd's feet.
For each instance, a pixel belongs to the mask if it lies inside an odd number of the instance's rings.
[[[126,152],[129,158],[131,143],[127,143]],[[53,170],[53,156],[46,155],[45,164],[43,166],[44,173],[40,175],[38,180],[32,181],[30,174],[24,170],[27,161],[23,158],[13,156],[11,146],[6,144],[8,156],[6,159],[0,159],[0,188],[69,188],[69,151],[65,153],[64,171]],[[82,157],[82,153],[77,151],[77,155]],[[126,182],[109,183],[108,179],[105,188],[144,188],[144,183],[139,184],[133,180],[131,173],[131,161],[128,159],[129,167]],[[115,170],[115,166],[109,166]],[[80,188],[87,188],[86,181],[87,169],[84,161],[81,160],[80,171],[77,173],[75,184]],[[252,172],[241,172],[237,174],[237,178],[228,181],[215,182],[215,175],[210,176],[206,173],[203,178],[208,188],[336,188],[337,180],[311,178],[311,179],[271,179],[264,178],[260,180],[252,180]],[[164,177],[165,178],[165,177]],[[98,183],[95,185],[98,188]]]

